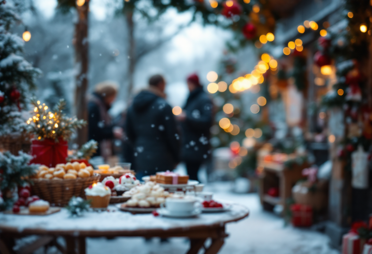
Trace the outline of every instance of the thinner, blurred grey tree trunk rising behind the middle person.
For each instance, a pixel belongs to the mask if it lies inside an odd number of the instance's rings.
[[[133,90],[133,83],[134,83],[134,72],[136,67],[136,55],[135,55],[135,39],[134,39],[134,22],[133,22],[133,12],[125,12],[125,19],[126,24],[128,26],[128,39],[129,39],[129,47],[128,47],[128,58],[129,58],[129,65],[128,65],[128,89],[126,94],[126,99],[128,101],[129,97],[132,94]]]

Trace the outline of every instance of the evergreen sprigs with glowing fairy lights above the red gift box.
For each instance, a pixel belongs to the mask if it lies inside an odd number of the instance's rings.
[[[40,101],[32,100],[31,104],[35,115],[27,120],[27,124],[29,132],[35,135],[35,139],[68,140],[76,128],[86,125],[86,121],[78,120],[76,117],[67,117],[63,113],[64,100],[60,100],[52,111]]]

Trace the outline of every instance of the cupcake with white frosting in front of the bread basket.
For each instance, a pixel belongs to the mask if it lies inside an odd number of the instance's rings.
[[[103,183],[93,183],[85,190],[87,200],[91,200],[90,206],[94,209],[107,208],[110,203],[111,189]]]

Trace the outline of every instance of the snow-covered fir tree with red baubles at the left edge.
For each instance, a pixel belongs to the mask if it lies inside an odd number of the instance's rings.
[[[20,23],[16,10],[0,0],[0,137],[25,130],[21,110],[41,71],[22,57],[24,41],[10,29]]]

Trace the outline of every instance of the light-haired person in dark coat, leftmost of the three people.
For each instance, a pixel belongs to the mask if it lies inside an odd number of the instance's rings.
[[[108,113],[117,93],[115,82],[103,81],[94,87],[94,92],[88,97],[88,138],[98,142],[94,156],[104,159],[112,155],[112,139],[123,136],[123,129],[113,126]]]

